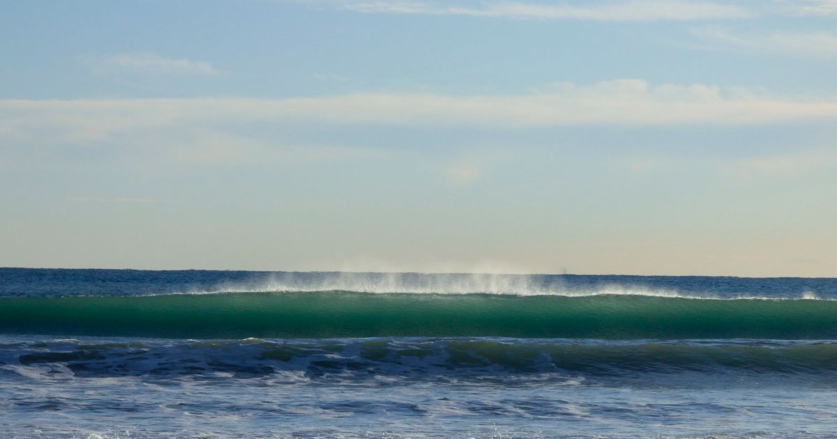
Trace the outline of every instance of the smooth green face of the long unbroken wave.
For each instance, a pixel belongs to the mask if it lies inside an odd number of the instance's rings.
[[[0,333],[190,339],[837,339],[837,301],[352,292],[3,299]]]

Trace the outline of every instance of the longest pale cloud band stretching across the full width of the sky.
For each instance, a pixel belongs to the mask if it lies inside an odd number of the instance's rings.
[[[752,125],[837,118],[837,96],[804,98],[617,79],[553,84],[532,94],[459,96],[360,93],[283,100],[0,100],[0,138],[106,141],[128,131],[270,122],[287,124],[535,126]]]

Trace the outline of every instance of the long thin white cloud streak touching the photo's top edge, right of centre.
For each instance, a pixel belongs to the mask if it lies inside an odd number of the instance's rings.
[[[399,13],[423,15],[463,15],[489,18],[545,20],[656,21],[747,18],[753,13],[730,4],[679,0],[628,0],[608,3],[485,3],[465,4],[416,1],[302,0],[358,13]]]

